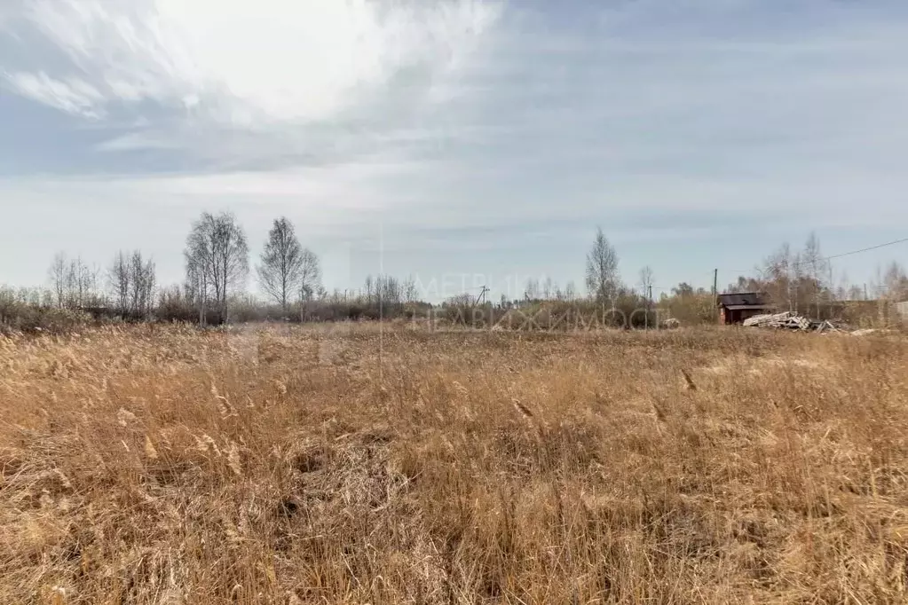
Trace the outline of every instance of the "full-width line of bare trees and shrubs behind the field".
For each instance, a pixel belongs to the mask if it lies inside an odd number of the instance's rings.
[[[146,258],[141,250],[119,250],[104,268],[57,253],[48,269],[48,288],[0,288],[0,323],[9,323],[10,317],[23,313],[26,307],[202,325],[227,320],[400,317],[432,307],[419,299],[412,278],[369,276],[359,289],[328,293],[321,283],[318,256],[301,244],[286,217],[273,220],[257,262],[251,267],[248,239],[235,216],[230,212],[202,212],[190,226],[183,260],[183,283],[161,287],[153,259]],[[639,270],[636,283],[626,284],[619,272],[617,250],[601,228],[597,228],[587,252],[585,268],[586,295],[573,282],[560,288],[552,278],[529,279],[522,298],[508,300],[501,294],[496,304],[464,293],[449,298],[440,307],[458,312],[465,307],[515,309],[570,303],[597,309],[603,317],[609,310],[627,315],[635,309],[654,307],[689,323],[716,317],[715,291],[682,282],[670,290],[656,288],[658,296],[654,298],[655,275],[649,267]],[[246,292],[253,270],[264,303]],[[836,301],[847,298],[906,299],[908,277],[902,266],[893,262],[878,271],[870,288],[848,285],[844,276],[836,285],[819,239],[811,234],[804,249],[795,250],[784,244],[767,256],[752,275],[738,278],[725,291],[765,292],[776,307],[821,317]],[[642,317],[643,325],[651,325],[648,312],[637,317]]]

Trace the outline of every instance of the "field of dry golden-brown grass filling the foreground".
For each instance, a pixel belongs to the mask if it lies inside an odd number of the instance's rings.
[[[0,337],[0,603],[908,601],[908,343]]]

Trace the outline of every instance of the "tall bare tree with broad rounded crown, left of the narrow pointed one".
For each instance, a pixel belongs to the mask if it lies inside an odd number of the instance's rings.
[[[229,291],[242,289],[249,273],[249,246],[242,228],[229,212],[217,216],[203,212],[192,223],[184,255],[187,282],[193,285],[200,318],[203,321],[211,288],[214,303],[225,319]]]

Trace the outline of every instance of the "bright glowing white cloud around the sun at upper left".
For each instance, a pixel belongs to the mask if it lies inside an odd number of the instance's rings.
[[[34,28],[73,69],[0,67],[20,93],[77,114],[150,101],[196,121],[311,122],[409,69],[442,81],[498,13],[471,0],[35,0],[6,29]]]

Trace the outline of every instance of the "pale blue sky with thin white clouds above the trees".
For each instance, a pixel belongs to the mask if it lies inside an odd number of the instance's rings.
[[[582,289],[597,227],[629,284],[723,288],[908,235],[905,57],[901,0],[4,0],[0,283],[119,249],[177,283],[227,210],[329,289]]]

